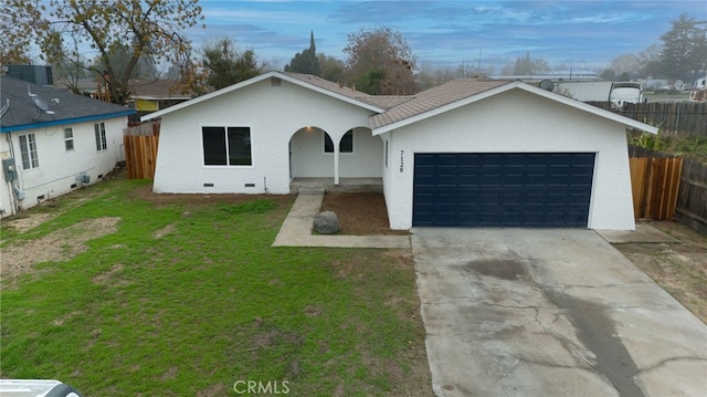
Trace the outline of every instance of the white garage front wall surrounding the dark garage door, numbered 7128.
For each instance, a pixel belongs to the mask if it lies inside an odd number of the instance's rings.
[[[394,139],[389,137],[383,188],[392,229],[412,227],[415,153],[500,152],[597,153],[589,228],[635,228],[625,126],[620,123],[511,90],[382,136],[389,135]]]

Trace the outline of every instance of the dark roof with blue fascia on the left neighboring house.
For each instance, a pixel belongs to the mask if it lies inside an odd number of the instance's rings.
[[[28,92],[44,100],[54,114],[41,112]],[[59,100],[59,103],[55,104],[52,100]],[[0,119],[0,133],[123,117],[136,113],[135,109],[120,105],[1,76],[0,104],[6,106],[8,101],[10,107]]]

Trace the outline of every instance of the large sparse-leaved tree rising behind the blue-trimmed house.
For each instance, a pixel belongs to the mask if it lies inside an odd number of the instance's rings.
[[[105,70],[84,66],[105,80],[112,102],[124,103],[128,80],[140,59],[181,65],[189,72],[191,42],[182,31],[203,20],[198,0],[64,1],[6,0],[3,19],[13,22],[3,31],[9,48],[34,42],[50,63],[73,63],[81,48],[97,52]],[[33,34],[28,34],[33,32]],[[125,46],[129,58],[122,70],[112,51]],[[186,84],[196,74],[182,73]]]

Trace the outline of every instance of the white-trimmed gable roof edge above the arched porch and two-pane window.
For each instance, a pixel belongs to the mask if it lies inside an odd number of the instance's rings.
[[[191,101],[187,101],[183,102],[181,104],[175,105],[175,106],[170,106],[167,107],[162,111],[158,111],[155,113],[150,113],[148,115],[143,116],[140,119],[143,121],[148,121],[151,118],[157,118],[157,117],[161,117],[163,115],[173,113],[173,112],[178,112],[184,107],[189,107],[189,106],[193,106],[196,104],[205,102],[205,101],[210,101],[212,98],[217,98],[219,96],[225,95],[228,93],[241,90],[243,87],[253,85],[253,84],[257,84],[262,81],[268,80],[268,79],[281,79],[284,81],[287,81],[292,84],[298,85],[300,87],[305,87],[307,90],[312,90],[315,92],[318,92],[320,94],[330,96],[333,98],[339,100],[339,101],[344,101],[347,103],[350,103],[352,105],[356,106],[360,106],[363,107],[366,109],[376,112],[376,113],[381,113],[383,111],[386,111],[386,108],[376,105],[372,102],[368,102],[365,101],[365,98],[367,96],[369,96],[368,94],[361,93],[359,91],[356,90],[351,90],[348,87],[345,87],[342,85],[339,85],[337,83],[333,83],[329,81],[326,81],[324,79],[317,77],[317,76],[313,76],[309,74],[299,74],[299,73],[283,73],[283,72],[267,72],[264,74],[261,74],[260,76],[255,76],[253,79],[249,79],[246,81],[230,85],[228,87],[214,91],[212,93],[196,97]]]

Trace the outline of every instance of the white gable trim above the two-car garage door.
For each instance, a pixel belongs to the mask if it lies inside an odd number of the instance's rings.
[[[622,115],[619,115],[619,114],[615,114],[615,113],[612,113],[612,112],[609,112],[609,111],[601,109],[601,108],[599,108],[597,106],[588,105],[588,104],[585,104],[583,102],[579,102],[579,101],[576,101],[576,100],[572,100],[572,98],[568,98],[566,96],[562,96],[562,95],[558,95],[558,94],[548,92],[546,90],[532,86],[532,85],[527,84],[527,83],[523,83],[523,82],[516,81],[516,82],[510,82],[508,84],[504,84],[504,85],[497,86],[495,88],[485,91],[485,92],[476,94],[476,95],[468,96],[468,97],[466,97],[464,100],[456,101],[456,102],[446,104],[444,106],[433,108],[431,111],[414,115],[412,117],[408,117],[408,118],[401,119],[399,122],[391,123],[391,124],[378,127],[378,128],[372,130],[372,134],[373,134],[373,136],[380,135],[380,134],[383,134],[383,133],[387,133],[387,132],[390,132],[390,130],[393,130],[393,129],[397,129],[397,128],[401,128],[401,127],[404,127],[407,125],[423,121],[425,118],[433,117],[433,116],[440,115],[442,113],[445,113],[445,112],[449,112],[449,111],[452,111],[452,109],[455,109],[455,108],[472,104],[474,102],[483,101],[483,100],[485,100],[487,97],[490,97],[490,96],[494,96],[494,95],[498,95],[500,93],[505,93],[507,91],[516,90],[516,88],[524,90],[524,91],[527,91],[529,93],[537,94],[537,95],[540,95],[542,97],[546,97],[546,98],[548,98],[550,101],[559,102],[561,104],[578,108],[580,111],[584,111],[587,113],[591,113],[591,114],[594,114],[597,116],[611,119],[611,121],[616,122],[619,124],[623,124],[623,125],[625,125],[627,127],[637,128],[637,129],[641,129],[641,130],[644,130],[644,132],[651,133],[651,134],[657,134],[658,133],[658,128],[657,127],[654,127],[654,126],[647,125],[645,123],[641,123],[641,122],[634,121],[632,118],[629,118],[629,117],[625,117],[625,116],[622,116]]]

